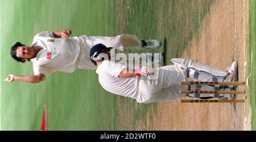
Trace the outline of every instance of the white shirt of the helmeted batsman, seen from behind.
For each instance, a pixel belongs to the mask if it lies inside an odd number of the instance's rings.
[[[137,76],[131,78],[118,78],[118,75],[127,66],[114,61],[103,61],[98,66],[96,73],[101,86],[108,92],[125,97],[137,98]]]

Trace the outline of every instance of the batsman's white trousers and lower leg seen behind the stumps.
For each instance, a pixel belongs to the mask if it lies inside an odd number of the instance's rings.
[[[196,68],[195,68],[196,69]],[[189,76],[191,77],[191,76]],[[218,81],[224,81],[225,76],[215,76]],[[187,94],[180,94],[179,91],[188,89],[187,85],[179,85],[180,81],[187,80],[187,71],[178,65],[159,67],[157,79],[148,79],[142,76],[138,81],[137,102],[147,104],[151,102],[175,100],[185,97]],[[209,72],[200,72],[197,79],[200,81],[212,81],[213,75]],[[195,90],[197,88],[191,88]],[[214,90],[214,87],[201,86],[200,90]],[[201,97],[214,96],[214,94],[200,94]],[[195,94],[189,94],[195,97]]]

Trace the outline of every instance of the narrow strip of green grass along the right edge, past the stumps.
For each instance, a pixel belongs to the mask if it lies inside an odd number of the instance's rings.
[[[255,24],[255,15],[256,15],[256,2],[255,0],[250,1],[250,79],[249,79],[249,87],[250,89],[250,104],[251,104],[251,130],[256,130],[256,92],[255,92],[255,76],[256,76],[256,24]]]

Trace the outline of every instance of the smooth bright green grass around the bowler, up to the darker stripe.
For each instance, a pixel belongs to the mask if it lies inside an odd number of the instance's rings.
[[[39,130],[48,101],[50,130],[116,130],[117,96],[98,84],[95,71],[55,72],[46,81],[3,82],[8,74],[32,75],[31,63],[16,63],[10,46],[30,46],[41,31],[72,29],[72,36],[120,33],[115,1],[1,1],[1,129]],[[82,76],[82,77],[81,77]]]

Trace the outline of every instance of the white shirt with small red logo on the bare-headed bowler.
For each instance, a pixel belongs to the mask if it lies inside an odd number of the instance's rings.
[[[52,32],[41,32],[34,37],[33,46],[41,46],[37,56],[31,59],[34,75],[48,76],[54,71],[74,72],[80,53],[78,37],[55,38]]]

